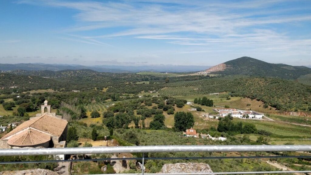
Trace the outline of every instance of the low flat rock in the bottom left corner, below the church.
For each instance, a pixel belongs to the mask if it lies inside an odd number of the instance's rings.
[[[0,172],[0,175],[58,175],[58,173],[47,169],[29,169],[22,171],[3,171]]]

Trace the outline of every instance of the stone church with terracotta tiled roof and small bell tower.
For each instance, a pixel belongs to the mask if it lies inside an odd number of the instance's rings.
[[[41,114],[18,125],[0,140],[0,149],[65,147],[68,122],[51,112],[48,101]]]

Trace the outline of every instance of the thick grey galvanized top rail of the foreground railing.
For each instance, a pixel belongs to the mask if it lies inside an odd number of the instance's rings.
[[[311,145],[169,145],[169,146],[114,146],[88,148],[30,148],[0,149],[0,156],[155,153],[155,152],[267,152],[311,151]]]

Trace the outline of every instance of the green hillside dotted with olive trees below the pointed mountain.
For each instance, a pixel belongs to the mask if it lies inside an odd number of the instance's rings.
[[[206,95],[232,92],[232,96],[257,99],[283,110],[307,110],[311,106],[311,87],[292,80],[227,76],[206,80],[170,83],[161,95]]]

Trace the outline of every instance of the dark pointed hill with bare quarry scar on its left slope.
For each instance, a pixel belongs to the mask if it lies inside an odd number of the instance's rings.
[[[297,79],[302,75],[311,73],[311,69],[305,66],[272,64],[250,57],[241,57],[216,65],[199,73]]]

